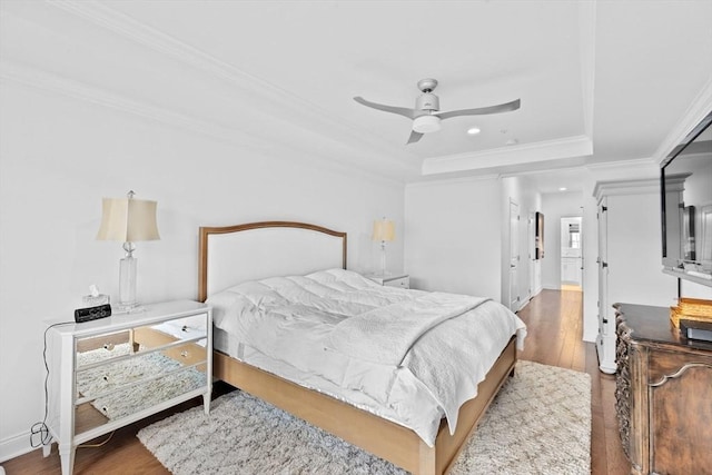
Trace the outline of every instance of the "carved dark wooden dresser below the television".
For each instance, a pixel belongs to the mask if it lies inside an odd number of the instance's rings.
[[[712,474],[712,343],[682,338],[670,308],[615,304],[615,400],[633,474]]]

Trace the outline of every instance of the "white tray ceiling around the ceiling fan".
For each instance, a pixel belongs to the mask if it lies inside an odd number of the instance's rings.
[[[712,89],[709,0],[2,0],[0,14],[6,78],[405,182],[654,160]],[[522,107],[405,145],[408,119],[353,100],[413,107],[427,77],[442,110]]]

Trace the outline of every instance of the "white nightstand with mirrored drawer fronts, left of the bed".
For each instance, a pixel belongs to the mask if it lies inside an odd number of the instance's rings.
[[[80,444],[196,396],[210,410],[211,309],[177,300],[58,324],[47,330],[47,426],[70,475]]]

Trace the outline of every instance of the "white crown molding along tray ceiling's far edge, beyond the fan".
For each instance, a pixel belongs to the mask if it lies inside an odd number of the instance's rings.
[[[536,144],[523,144],[493,150],[458,154],[423,160],[423,175],[478,170],[492,167],[531,164],[593,154],[593,142],[587,136],[565,137]]]

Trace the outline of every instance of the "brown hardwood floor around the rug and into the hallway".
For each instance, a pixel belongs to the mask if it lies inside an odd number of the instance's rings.
[[[612,376],[599,370],[595,345],[581,339],[582,297],[581,291],[543,290],[533,298],[518,314],[526,323],[528,331],[525,349],[520,357],[591,375],[591,473],[623,475],[630,473],[630,465],[617,435],[613,393],[615,383]],[[216,396],[227,390],[229,387],[220,383],[215,387]],[[138,441],[136,433],[148,424],[199,403],[200,399],[196,399],[123,427],[101,447],[79,448],[75,461],[75,474],[168,474]],[[56,445],[47,458],[42,457],[41,449],[37,449],[4,462],[2,466],[8,475],[60,473]]]

